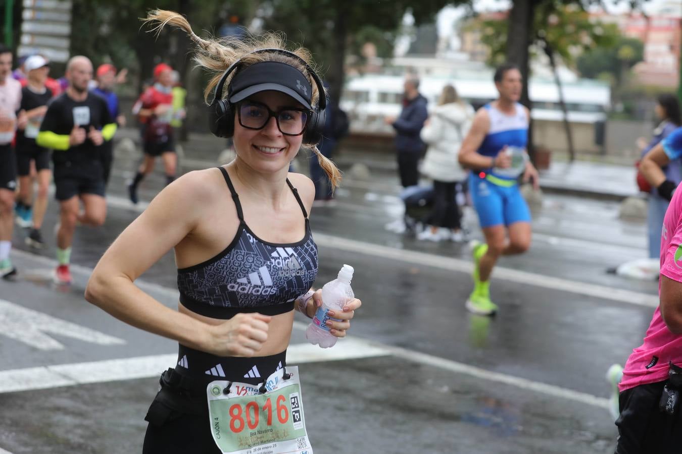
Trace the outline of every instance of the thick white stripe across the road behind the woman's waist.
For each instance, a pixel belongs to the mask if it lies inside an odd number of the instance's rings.
[[[312,344],[290,345],[286,360],[291,364],[301,364],[385,355],[389,353],[381,346],[368,345],[362,340],[349,338],[337,342],[333,348],[325,349]],[[170,353],[3,370],[0,371],[0,393],[157,377],[169,367],[173,368],[176,363],[177,354]]]

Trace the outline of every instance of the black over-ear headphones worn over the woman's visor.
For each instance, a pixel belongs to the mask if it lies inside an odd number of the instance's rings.
[[[317,106],[312,106],[312,113],[306,125],[306,131],[303,132],[304,144],[317,144],[322,140],[322,130],[325,127],[325,109],[327,108],[327,99],[325,97],[325,88],[322,85],[322,80],[315,74],[315,71],[308,65],[308,63],[301,59],[300,56],[293,52],[284,49],[258,49],[249,52],[246,55],[261,54],[261,53],[276,53],[286,56],[291,56],[305,65],[308,74],[315,81],[318,92]],[[245,55],[245,56],[246,56]],[[241,57],[243,59],[243,56]],[[235,61],[222,75],[220,82],[216,85],[216,91],[213,92],[213,101],[209,106],[209,128],[211,133],[216,137],[232,137],[235,133],[235,112],[233,107],[227,99],[222,99],[222,86],[225,84],[228,76],[239,67],[241,59]]]

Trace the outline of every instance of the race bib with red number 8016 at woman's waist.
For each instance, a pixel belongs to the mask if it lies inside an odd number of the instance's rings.
[[[312,454],[297,367],[265,381],[265,393],[247,383],[215,380],[206,392],[211,434],[223,454]],[[229,385],[229,387],[228,387]]]

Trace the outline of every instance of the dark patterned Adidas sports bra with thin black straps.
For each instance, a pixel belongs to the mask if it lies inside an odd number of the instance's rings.
[[[216,257],[177,270],[180,302],[192,312],[215,319],[231,319],[239,312],[276,315],[293,310],[294,300],[312,287],[318,266],[317,245],[297,189],[287,178],[306,219],[306,235],[291,244],[269,243],[246,225],[230,176],[218,168],[235,201],[239,228]]]

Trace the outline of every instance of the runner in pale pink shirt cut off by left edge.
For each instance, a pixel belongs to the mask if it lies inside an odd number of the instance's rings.
[[[21,84],[12,78],[12,50],[0,44],[0,277],[16,276],[10,260],[14,230],[16,112],[21,103]]]

